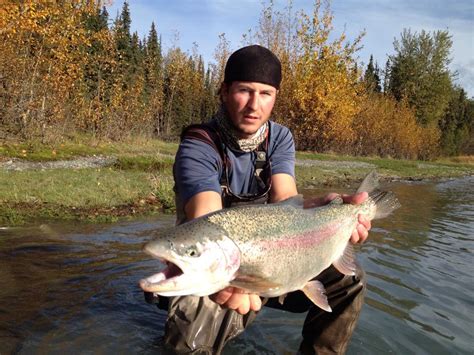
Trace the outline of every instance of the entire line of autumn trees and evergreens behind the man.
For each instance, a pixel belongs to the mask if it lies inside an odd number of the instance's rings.
[[[216,112],[231,53],[224,33],[206,66],[197,44],[165,53],[154,23],[142,39],[131,33],[128,2],[111,27],[102,1],[4,2],[0,138],[169,139]],[[452,86],[447,31],[405,31],[382,94],[373,58],[363,75],[355,59],[362,35],[334,34],[329,5],[317,0],[308,15],[294,14],[291,0],[281,12],[267,1],[243,36],[281,60],[273,119],[292,129],[299,149],[426,159],[474,146],[474,102]]]

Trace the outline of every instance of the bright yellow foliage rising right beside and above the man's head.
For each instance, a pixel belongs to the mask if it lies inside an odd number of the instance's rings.
[[[275,19],[261,21],[261,26],[275,27],[260,28],[260,33],[289,29],[289,37],[271,43],[283,70],[275,118],[292,129],[299,149],[344,149],[355,139],[352,122],[364,88],[358,83],[353,55],[362,35],[353,43],[345,43],[344,33],[330,41],[333,17],[329,2],[325,5],[323,9],[316,1],[312,15],[301,12],[294,24],[291,13],[284,18],[272,12],[271,4],[264,17]]]

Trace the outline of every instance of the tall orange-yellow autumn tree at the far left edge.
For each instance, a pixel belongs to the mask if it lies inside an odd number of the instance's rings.
[[[81,100],[85,49],[90,38],[83,25],[96,14],[94,1],[17,2],[1,8],[0,77],[7,95],[0,98],[4,129],[25,139],[74,125],[71,109]],[[74,112],[74,111],[72,111]]]

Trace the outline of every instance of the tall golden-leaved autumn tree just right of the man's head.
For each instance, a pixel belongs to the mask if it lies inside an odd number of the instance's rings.
[[[352,70],[361,37],[346,43],[342,34],[331,41],[333,15],[324,5],[316,1],[311,16],[300,14],[287,112],[300,149],[343,151],[354,139],[352,120],[362,92]]]

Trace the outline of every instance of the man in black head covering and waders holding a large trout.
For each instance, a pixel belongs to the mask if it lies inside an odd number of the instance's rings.
[[[226,64],[221,87],[222,107],[204,125],[183,132],[174,165],[178,223],[241,203],[272,203],[297,194],[295,146],[288,128],[270,121],[281,82],[281,64],[268,49],[253,45],[234,52]],[[338,196],[305,201],[323,205]],[[343,196],[361,203],[366,193]],[[363,242],[370,222],[360,219],[351,240]],[[308,312],[302,353],[344,352],[363,301],[359,277],[345,277],[334,268],[318,276],[327,288],[332,313],[314,306],[301,292],[290,293],[283,305],[268,306]],[[163,300],[160,298],[160,302]],[[172,297],[165,342],[181,353],[220,353],[262,307],[255,294],[228,287],[210,297]]]

